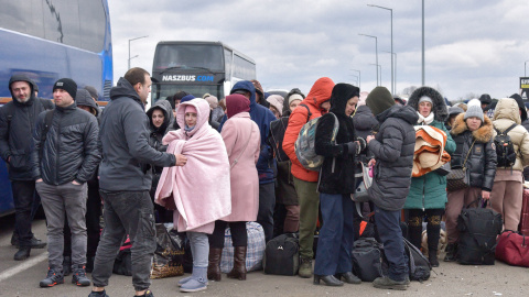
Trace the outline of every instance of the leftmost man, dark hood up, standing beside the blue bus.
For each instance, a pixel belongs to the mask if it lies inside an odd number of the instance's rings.
[[[9,90],[13,100],[0,108],[0,155],[8,164],[9,179],[14,201],[14,233],[19,251],[14,260],[25,260],[31,249],[42,249],[46,243],[31,232],[32,208],[35,204],[35,180],[32,178],[30,152],[31,135],[39,113],[53,109],[51,100],[34,96],[33,81],[25,75],[13,75]]]

